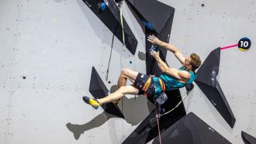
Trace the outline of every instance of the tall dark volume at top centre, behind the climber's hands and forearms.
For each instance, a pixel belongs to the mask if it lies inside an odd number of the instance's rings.
[[[147,36],[154,34],[161,41],[168,43],[175,9],[156,0],[126,0],[126,2],[130,5],[133,12],[136,13],[138,22],[142,23],[140,26],[144,26],[143,29],[145,28],[147,74],[159,76],[161,70],[148,53],[151,43],[147,41]],[[166,54],[167,50],[160,48],[160,57],[163,61],[165,61]]]

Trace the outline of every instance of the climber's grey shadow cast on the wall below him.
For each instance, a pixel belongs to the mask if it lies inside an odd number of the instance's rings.
[[[139,95],[137,98],[129,98],[129,99],[126,97],[123,97],[123,103],[126,105],[130,105],[129,107],[133,108],[133,109],[130,109],[129,112],[123,114],[125,117],[124,120],[127,123],[130,123],[131,125],[137,125],[141,121],[144,120],[145,117],[143,115],[137,115],[137,114],[143,113],[144,108],[140,108],[140,105],[141,105],[140,101],[144,101],[144,99],[145,98],[142,95]],[[119,102],[121,102],[121,101],[119,101]],[[150,103],[150,101],[147,101],[147,108],[149,109],[149,111],[154,110],[154,107]],[[92,110],[93,110],[93,108],[92,108]],[[134,115],[130,115],[130,112],[133,112]],[[66,126],[67,126],[68,130],[73,132],[74,139],[78,140],[80,138],[81,134],[83,134],[85,131],[100,127],[105,122],[107,122],[110,118],[119,118],[119,117],[116,117],[115,115],[111,115],[111,114],[103,111],[101,114],[97,115],[91,121],[89,121],[83,125],[71,124],[71,122],[68,122],[66,124]],[[115,129],[112,129],[112,130],[115,130]]]

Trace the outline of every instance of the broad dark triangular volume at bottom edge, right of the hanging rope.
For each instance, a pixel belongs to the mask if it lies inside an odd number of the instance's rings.
[[[227,144],[231,143],[225,139],[219,132],[203,122],[201,118],[190,112],[181,118],[169,129],[161,133],[161,142],[182,143],[182,144]],[[157,137],[153,141],[154,144],[159,143]]]

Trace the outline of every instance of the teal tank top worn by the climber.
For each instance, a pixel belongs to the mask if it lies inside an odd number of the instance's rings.
[[[185,70],[185,67],[181,67],[181,68],[179,68],[179,70]],[[188,72],[190,74],[190,79],[185,84],[179,82],[175,77],[171,77],[168,74],[160,75],[161,79],[163,80],[163,82],[165,84],[165,91],[175,90],[175,89],[178,89],[178,88],[181,88],[181,87],[185,87],[185,86],[187,86],[189,84],[192,84],[192,82],[195,80],[196,74],[193,73],[192,71],[188,71]]]

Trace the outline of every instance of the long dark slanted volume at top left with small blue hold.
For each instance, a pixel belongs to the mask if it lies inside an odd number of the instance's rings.
[[[109,0],[108,5],[104,11],[99,9],[99,2],[103,2],[101,0],[83,0],[85,4],[88,6],[95,15],[109,28],[109,30],[123,43],[123,32],[122,26],[119,22],[119,9],[114,0]],[[137,39],[133,35],[130,27],[128,26],[126,20],[123,18],[123,29],[124,29],[124,37],[126,48],[133,55],[137,49]]]

